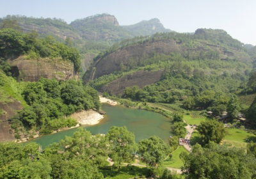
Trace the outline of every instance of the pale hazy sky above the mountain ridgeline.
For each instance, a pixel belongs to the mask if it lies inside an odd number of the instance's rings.
[[[68,24],[99,13],[115,15],[120,25],[157,18],[177,32],[223,29],[256,45],[256,0],[0,0],[0,17],[56,17]]]

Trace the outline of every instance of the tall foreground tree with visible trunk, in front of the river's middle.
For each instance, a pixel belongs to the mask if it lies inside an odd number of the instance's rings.
[[[118,172],[120,172],[122,162],[131,162],[138,150],[135,136],[125,126],[113,126],[109,129],[106,137],[108,137],[113,147],[109,157],[113,159],[115,165],[118,166]]]

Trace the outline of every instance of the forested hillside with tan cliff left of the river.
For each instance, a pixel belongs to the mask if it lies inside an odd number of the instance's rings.
[[[0,30],[0,47],[2,141],[9,133],[16,139],[24,133],[33,138],[75,126],[77,121],[68,117],[72,113],[100,108],[97,91],[72,79],[81,65],[77,49],[52,36],[40,38],[35,31],[24,34],[8,27]]]

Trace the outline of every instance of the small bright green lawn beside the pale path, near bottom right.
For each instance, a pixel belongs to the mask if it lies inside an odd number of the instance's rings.
[[[183,146],[178,146],[178,148],[175,151],[172,152],[172,159],[170,160],[169,157],[168,157],[168,159],[164,160],[163,165],[165,167],[173,167],[173,168],[180,169],[180,167],[183,166],[183,162],[179,157],[179,155],[182,151],[188,153],[188,151],[186,151]]]

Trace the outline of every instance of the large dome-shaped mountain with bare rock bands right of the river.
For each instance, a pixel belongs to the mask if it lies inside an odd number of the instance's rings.
[[[83,80],[119,96],[125,96],[125,88],[138,86],[144,95],[137,100],[151,102],[168,102],[170,90],[177,90],[182,101],[207,89],[238,90],[248,78],[245,70],[252,70],[252,60],[243,43],[220,29],[197,29],[193,35],[161,33],[115,44],[95,58]]]

